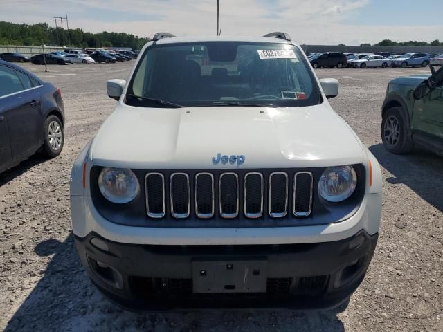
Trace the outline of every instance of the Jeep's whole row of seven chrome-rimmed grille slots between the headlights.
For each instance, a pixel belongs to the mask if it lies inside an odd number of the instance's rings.
[[[153,172],[145,176],[147,216],[282,219],[290,211],[303,218],[312,211],[313,183],[311,172]]]

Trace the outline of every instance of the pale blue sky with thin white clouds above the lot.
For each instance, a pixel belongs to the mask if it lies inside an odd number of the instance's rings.
[[[216,0],[0,0],[0,21],[151,37],[215,35]],[[426,3],[426,6],[422,6]],[[443,0],[220,0],[221,35],[289,33],[299,44],[443,41]],[[60,24],[60,21],[59,21]]]

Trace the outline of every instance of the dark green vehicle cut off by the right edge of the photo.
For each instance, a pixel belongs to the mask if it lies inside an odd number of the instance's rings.
[[[393,154],[407,154],[417,145],[443,156],[443,67],[431,72],[388,84],[381,139]]]

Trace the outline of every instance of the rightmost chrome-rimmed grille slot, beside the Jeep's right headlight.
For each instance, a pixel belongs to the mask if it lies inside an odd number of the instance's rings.
[[[293,181],[293,215],[306,217],[312,211],[312,185],[311,172],[298,172]]]

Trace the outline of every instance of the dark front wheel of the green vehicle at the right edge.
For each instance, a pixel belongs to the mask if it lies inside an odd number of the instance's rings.
[[[381,140],[392,154],[408,154],[413,149],[413,140],[403,108],[392,107],[383,114]]]

